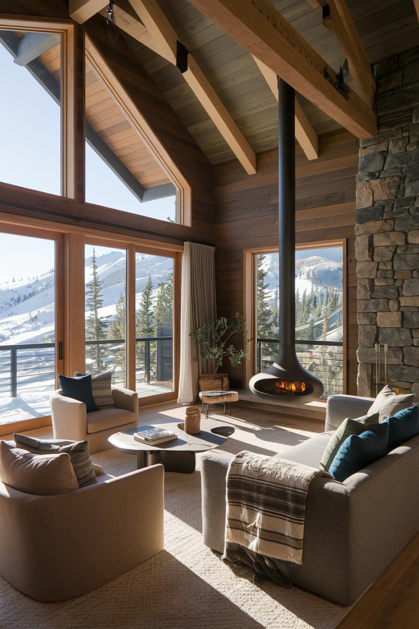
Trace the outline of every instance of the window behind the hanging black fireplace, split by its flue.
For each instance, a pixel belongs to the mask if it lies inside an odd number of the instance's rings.
[[[278,352],[278,253],[256,255],[256,367],[266,369]],[[324,397],[343,391],[343,249],[295,252],[295,338],[298,359],[324,384]]]

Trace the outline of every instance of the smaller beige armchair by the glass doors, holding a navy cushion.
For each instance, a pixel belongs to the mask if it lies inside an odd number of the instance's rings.
[[[115,408],[86,412],[84,402],[66,398],[61,389],[50,395],[52,428],[55,439],[89,441],[90,454],[111,448],[108,437],[138,424],[138,394],[112,386]]]

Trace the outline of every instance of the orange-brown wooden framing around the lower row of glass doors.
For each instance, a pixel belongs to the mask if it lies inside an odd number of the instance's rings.
[[[116,247],[127,250],[127,329],[126,343],[135,348],[131,338],[135,333],[135,253],[151,253],[173,257],[173,391],[139,399],[139,408],[153,406],[164,402],[175,401],[178,397],[179,366],[180,366],[180,295],[183,245],[161,242],[124,234],[113,234],[83,228],[77,225],[63,225],[54,221],[38,218],[22,218],[12,213],[0,213],[0,232],[31,237],[48,238],[54,240],[62,238],[60,255],[56,265],[62,274],[59,295],[56,292],[56,328],[61,316],[61,338],[64,340],[62,364],[56,362],[58,370],[66,376],[72,376],[75,371],[85,369],[85,243],[92,243],[101,247]],[[58,248],[57,248],[58,249]],[[57,273],[57,270],[56,270]],[[131,290],[129,290],[131,286]],[[132,287],[134,286],[134,290]],[[60,306],[62,304],[62,306]],[[58,312],[60,308],[60,312]],[[128,313],[131,313],[129,318]],[[131,337],[129,336],[131,334]],[[57,341],[58,332],[56,335]],[[58,355],[58,352],[56,352]],[[127,387],[135,390],[135,349],[127,357]],[[58,384],[57,384],[58,386]],[[21,430],[34,430],[51,425],[51,416],[33,418],[14,423],[0,423],[0,437],[10,435]]]

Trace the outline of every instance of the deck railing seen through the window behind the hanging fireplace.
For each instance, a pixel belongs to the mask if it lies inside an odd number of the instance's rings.
[[[278,353],[278,339],[258,338],[257,370],[270,367]],[[323,398],[343,392],[343,343],[339,341],[296,340],[298,360],[305,369],[323,382]]]

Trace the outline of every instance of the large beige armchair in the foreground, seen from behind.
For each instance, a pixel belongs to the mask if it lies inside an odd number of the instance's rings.
[[[52,603],[132,570],[164,548],[163,477],[151,465],[57,496],[0,482],[0,575]]]

